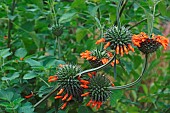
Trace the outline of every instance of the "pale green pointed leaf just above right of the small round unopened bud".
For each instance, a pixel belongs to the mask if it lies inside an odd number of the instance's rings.
[[[61,16],[59,23],[66,23],[71,21],[71,19],[76,15],[76,12],[67,12]]]

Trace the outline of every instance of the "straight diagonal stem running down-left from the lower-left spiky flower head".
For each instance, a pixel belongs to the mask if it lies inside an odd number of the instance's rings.
[[[39,102],[37,102],[34,105],[34,108],[36,108],[37,106],[39,106],[41,103],[43,103],[45,100],[47,100],[51,95],[53,95],[57,90],[59,89],[59,86],[56,87],[53,91],[51,91],[49,94],[47,94],[44,98],[42,98]]]

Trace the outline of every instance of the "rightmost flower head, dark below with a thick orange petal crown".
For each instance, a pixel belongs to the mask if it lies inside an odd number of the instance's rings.
[[[152,34],[152,38],[149,38],[146,33],[141,32],[138,35],[132,36],[132,42],[135,46],[139,48],[141,52],[143,52],[144,54],[148,54],[155,52],[160,45],[162,45],[164,49],[166,49],[169,40],[164,36],[154,34]]]

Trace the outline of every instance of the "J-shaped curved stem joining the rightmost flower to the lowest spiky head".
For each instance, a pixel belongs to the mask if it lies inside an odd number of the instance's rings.
[[[129,88],[131,86],[136,85],[137,83],[139,83],[141,81],[141,79],[142,79],[142,77],[143,77],[143,75],[144,75],[144,73],[146,71],[147,64],[148,64],[148,54],[145,55],[145,64],[144,64],[143,71],[142,71],[141,75],[139,76],[139,78],[136,81],[134,81],[132,83],[129,83],[129,84],[126,84],[126,85],[123,85],[123,86],[108,87],[108,89],[110,89],[110,90],[125,89],[125,88]]]

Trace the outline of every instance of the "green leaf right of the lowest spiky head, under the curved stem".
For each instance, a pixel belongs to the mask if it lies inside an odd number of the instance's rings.
[[[115,106],[116,102],[118,100],[120,100],[122,95],[123,95],[122,90],[113,90],[112,91],[112,95],[110,97],[110,104],[111,104],[111,106]]]

